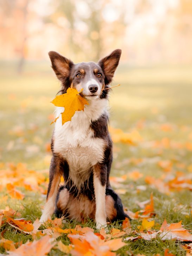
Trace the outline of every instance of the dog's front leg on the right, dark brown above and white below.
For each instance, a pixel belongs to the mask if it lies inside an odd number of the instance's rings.
[[[107,226],[105,211],[105,191],[107,182],[107,166],[105,164],[96,164],[94,166],[93,184],[95,191],[96,212],[95,220],[97,228]]]

